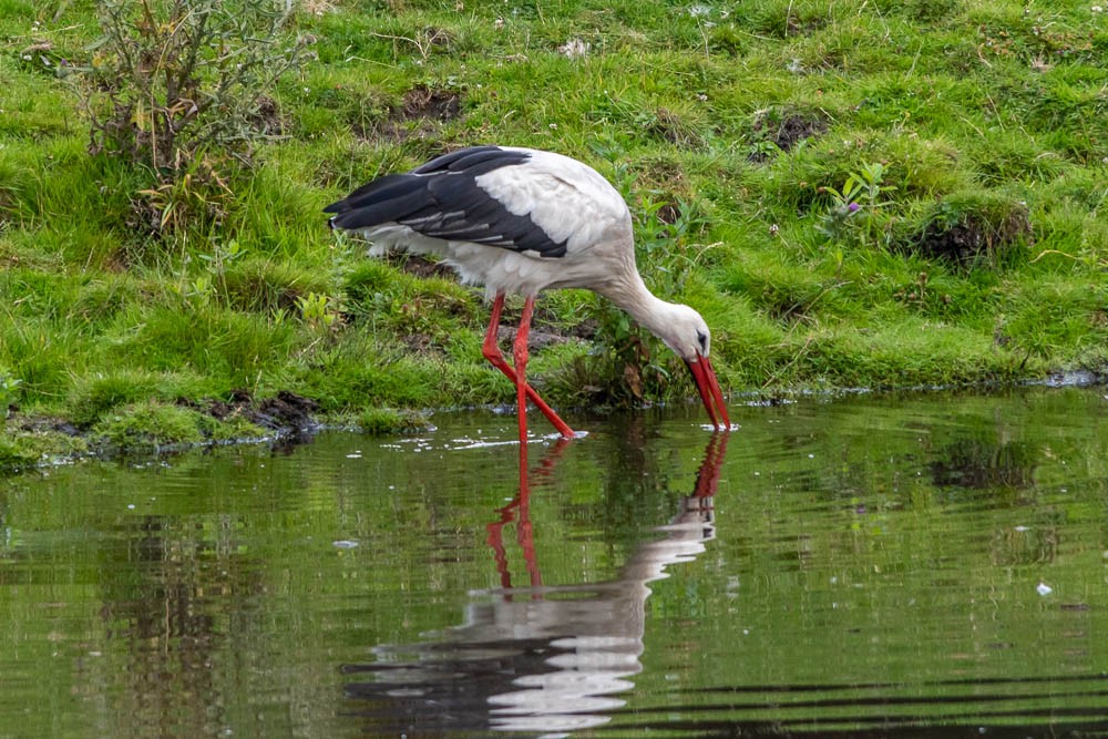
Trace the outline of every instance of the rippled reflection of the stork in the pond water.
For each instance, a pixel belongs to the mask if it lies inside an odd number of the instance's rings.
[[[502,588],[491,602],[466,607],[465,624],[435,640],[380,645],[378,661],[345,665],[369,681],[346,686],[348,698],[369,705],[353,711],[375,731],[565,736],[606,723],[624,706],[619,694],[642,671],[649,583],[669,565],[690,562],[715,537],[712,495],[728,434],[712,434],[693,493],[660,526],[665,537],[645,542],[603,583],[547,586],[542,582],[529,515],[530,478],[550,474],[564,447],[556,444],[529,474],[520,494],[489,524]],[[530,583],[514,586],[503,532],[514,524]]]

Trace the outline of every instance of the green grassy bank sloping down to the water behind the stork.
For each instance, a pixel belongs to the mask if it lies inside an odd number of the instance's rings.
[[[170,177],[90,153],[93,82],[66,72],[102,63],[95,7],[0,0],[0,458],[78,443],[70,427],[252,435],[280,391],[373,428],[510,401],[479,292],[361,259],[320,213],[473,143],[616,183],[647,283],[705,314],[732,392],[1108,363],[1090,3],[306,0],[281,34],[310,53],[253,101],[246,155]],[[691,394],[591,295],[541,305],[531,372],[554,404]]]

